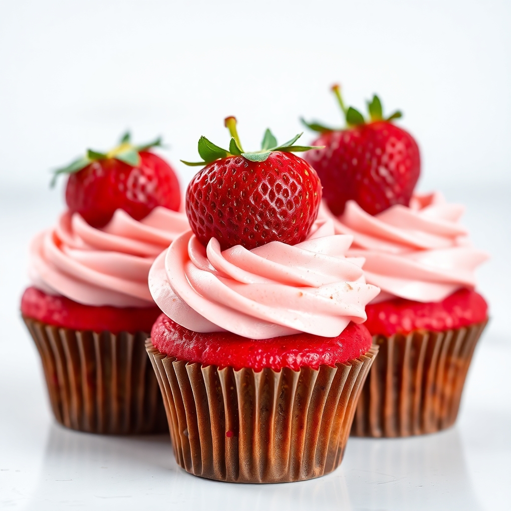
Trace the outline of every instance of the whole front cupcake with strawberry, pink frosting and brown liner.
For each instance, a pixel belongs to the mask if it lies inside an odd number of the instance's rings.
[[[267,130],[245,153],[199,142],[192,230],[155,260],[163,311],[147,340],[177,463],[228,482],[288,482],[333,471],[377,353],[360,323],[379,292],[352,237],[316,221],[321,185]]]

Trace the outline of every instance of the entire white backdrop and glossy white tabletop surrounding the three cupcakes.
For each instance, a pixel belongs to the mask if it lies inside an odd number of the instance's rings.
[[[298,117],[340,123],[378,92],[422,151],[422,190],[467,205],[492,260],[478,272],[492,322],[455,428],[351,439],[341,467],[305,483],[203,481],[168,439],[56,426],[19,318],[30,238],[64,207],[49,170],[126,128],[164,135],[184,188],[200,135],[246,148]],[[511,2],[0,2],[0,507],[19,509],[509,509],[511,483]],[[286,138],[287,137],[287,138]],[[312,140],[304,134],[304,142]]]

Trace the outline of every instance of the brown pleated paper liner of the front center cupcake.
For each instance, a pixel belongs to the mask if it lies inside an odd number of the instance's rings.
[[[378,352],[318,370],[234,370],[160,353],[146,341],[177,463],[219,481],[290,482],[342,460],[360,389]]]

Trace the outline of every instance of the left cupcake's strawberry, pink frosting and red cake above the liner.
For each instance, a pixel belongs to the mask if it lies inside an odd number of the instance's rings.
[[[89,150],[55,172],[69,175],[68,210],[31,244],[25,316],[82,330],[150,329],[158,309],[149,268],[189,229],[177,177],[150,151],[159,145],[135,146],[126,133],[110,152]]]

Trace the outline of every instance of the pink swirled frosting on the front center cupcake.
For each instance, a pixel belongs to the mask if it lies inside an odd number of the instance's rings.
[[[220,251],[215,238],[204,247],[189,231],[156,258],[149,289],[167,316],[195,332],[335,337],[350,321],[365,321],[379,289],[365,283],[363,259],[345,257],[351,236],[334,235],[324,220],[311,233],[293,246]]]

